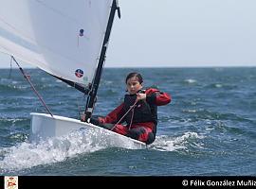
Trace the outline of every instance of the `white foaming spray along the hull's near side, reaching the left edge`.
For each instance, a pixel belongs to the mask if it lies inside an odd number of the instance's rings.
[[[106,135],[95,130],[81,129],[36,143],[23,142],[17,146],[0,148],[0,174],[41,164],[64,162],[67,158],[107,147],[139,148],[134,143],[127,143],[127,140],[113,140]]]

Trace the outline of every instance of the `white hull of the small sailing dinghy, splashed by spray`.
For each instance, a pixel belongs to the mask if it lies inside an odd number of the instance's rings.
[[[85,129],[86,132],[93,135],[94,140],[101,140],[110,146],[120,147],[145,147],[146,145],[137,140],[120,135],[108,129],[102,129],[93,124],[81,122],[78,119],[53,115],[51,117],[46,113],[30,113],[30,142],[44,140],[50,137],[61,137],[73,131]],[[102,138],[103,137],[103,138]],[[98,143],[101,143],[98,141]]]

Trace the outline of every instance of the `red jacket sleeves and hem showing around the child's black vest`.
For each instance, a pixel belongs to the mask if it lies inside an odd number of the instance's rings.
[[[145,91],[146,94],[146,101],[149,103],[154,103],[156,106],[163,106],[167,105],[171,102],[172,97],[170,94],[162,93],[156,89],[150,88]],[[121,116],[125,113],[123,112],[124,103],[121,103],[119,107],[117,107],[114,111],[108,113],[104,118],[100,117],[99,121],[102,124],[115,124],[119,122]],[[134,125],[134,124],[133,124]],[[132,126],[133,126],[132,125]],[[153,129],[155,124],[153,122],[144,122],[144,123],[137,123],[136,125],[149,127]]]

